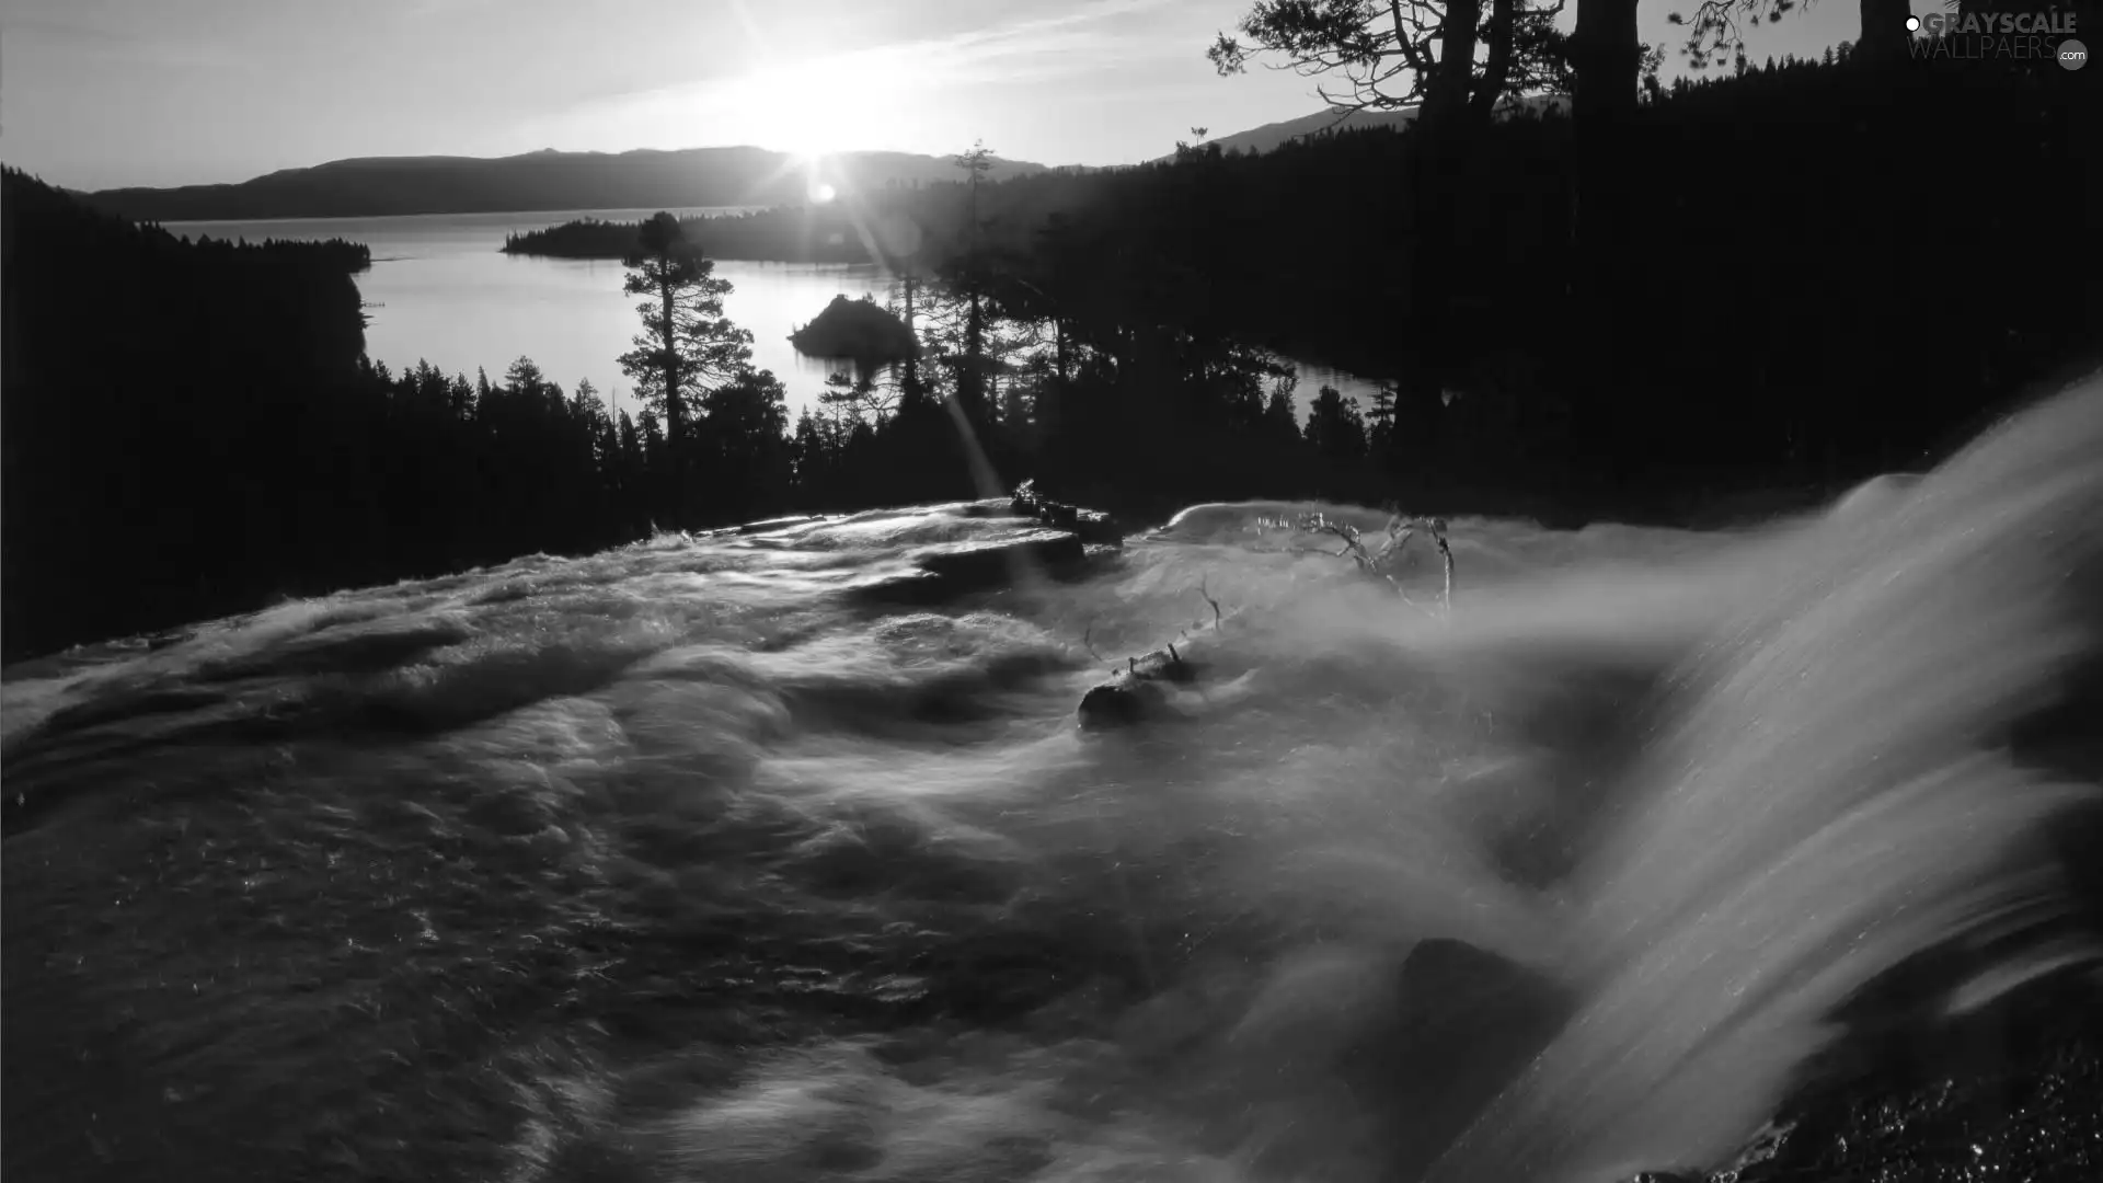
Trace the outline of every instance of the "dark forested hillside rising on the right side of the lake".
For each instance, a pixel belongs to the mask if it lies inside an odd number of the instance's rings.
[[[1413,497],[1657,507],[1920,463],[2103,333],[2095,276],[2057,259],[2097,229],[2099,105],[2036,65],[1842,46],[1653,86],[1581,295],[1560,114],[1447,147],[1438,217],[1415,131],[984,183],[976,219],[961,183],[770,217],[797,242],[858,223],[843,259],[972,257],[1005,312],[1075,341],[1150,324],[1388,379],[1407,427],[1367,467]],[[601,234],[618,253],[633,227]],[[1436,276],[1432,236],[1457,261]]]

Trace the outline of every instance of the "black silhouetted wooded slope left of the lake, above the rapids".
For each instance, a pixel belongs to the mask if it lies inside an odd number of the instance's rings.
[[[6,659],[278,596],[591,552],[654,526],[665,432],[517,360],[364,356],[364,248],[183,242],[17,171],[6,192]],[[780,383],[713,392],[683,503],[784,499]],[[751,438],[759,436],[759,438]],[[669,524],[669,522],[667,522]]]

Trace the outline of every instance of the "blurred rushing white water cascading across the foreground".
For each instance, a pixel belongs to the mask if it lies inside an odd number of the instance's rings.
[[[1760,530],[1455,520],[1449,621],[1287,505],[896,606],[1030,537],[940,505],[8,669],[11,1166],[1720,1164],[1884,970],[2090,962],[2044,840],[2097,785],[2008,737],[2097,655],[2097,457],[2088,385]],[[1199,587],[1171,718],[1077,730]]]

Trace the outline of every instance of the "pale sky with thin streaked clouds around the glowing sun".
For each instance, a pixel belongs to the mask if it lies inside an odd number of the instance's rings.
[[[50,183],[244,181],[349,156],[555,147],[955,154],[1131,164],[1192,126],[1321,109],[1220,78],[1247,0],[0,0],[0,160]],[[1651,44],[1691,0],[1642,0]],[[1937,0],[1914,0],[1918,13]],[[1575,0],[1571,0],[1575,11]],[[1819,53],[1817,0],[1754,55]],[[1676,61],[1676,53],[1672,55]],[[1668,67],[1670,72],[1670,67]]]

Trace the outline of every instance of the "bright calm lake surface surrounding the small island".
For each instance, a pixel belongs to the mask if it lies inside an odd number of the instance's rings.
[[[406,217],[305,217],[271,221],[170,221],[185,238],[324,240],[345,238],[372,248],[372,269],[358,276],[366,299],[366,354],[393,370],[427,360],[446,373],[490,379],[519,356],[532,358],[564,389],[578,379],[616,410],[635,413],[631,383],[614,362],[641,328],[635,297],[620,293],[622,267],[610,259],[536,259],[505,255],[505,234],[562,225],[580,217],[639,221],[656,210],[540,210]],[[742,213],[686,208],[681,217]],[[789,333],[824,309],[835,295],[875,295],[890,280],[875,263],[753,263],[717,259],[715,274],[732,282],[723,314],[753,333],[753,364],[774,370],[789,387],[791,419],[816,406],[826,375],[839,362],[805,358]],[[1302,366],[1300,406],[1321,383],[1369,402],[1373,383],[1340,370]]]

